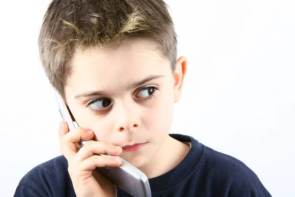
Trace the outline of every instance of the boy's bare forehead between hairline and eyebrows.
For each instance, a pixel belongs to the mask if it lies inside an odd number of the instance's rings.
[[[66,89],[79,93],[111,90],[167,73],[171,73],[170,63],[161,57],[153,44],[125,42],[115,48],[89,48],[75,54]]]

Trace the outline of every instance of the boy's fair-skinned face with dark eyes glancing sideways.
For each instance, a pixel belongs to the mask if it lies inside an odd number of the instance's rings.
[[[77,53],[72,64],[65,95],[79,126],[97,141],[145,143],[120,157],[136,167],[148,164],[166,142],[181,92],[169,62],[147,42],[126,41]]]

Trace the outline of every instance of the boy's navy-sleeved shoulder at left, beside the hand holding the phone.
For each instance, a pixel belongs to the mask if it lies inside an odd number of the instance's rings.
[[[35,166],[21,179],[14,196],[74,196],[67,167],[63,155]]]

